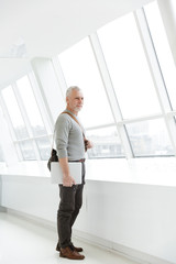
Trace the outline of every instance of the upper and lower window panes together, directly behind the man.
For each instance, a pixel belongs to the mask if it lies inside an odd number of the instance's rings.
[[[94,150],[88,151],[89,157],[121,156],[117,129],[100,129],[114,124],[114,120],[89,40],[82,40],[58,58],[67,86],[77,85],[84,91],[85,106],[79,117],[86,128],[91,128],[88,134],[95,143]]]

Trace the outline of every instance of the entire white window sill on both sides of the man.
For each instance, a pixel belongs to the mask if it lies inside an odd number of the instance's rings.
[[[176,157],[103,158],[86,161],[86,180],[176,186]],[[50,178],[46,162],[0,166],[0,175]]]

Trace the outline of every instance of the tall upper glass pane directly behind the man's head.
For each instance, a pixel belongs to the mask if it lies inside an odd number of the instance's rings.
[[[58,58],[67,85],[77,85],[84,91],[85,106],[80,112],[84,125],[112,123],[113,118],[88,38],[62,53]]]

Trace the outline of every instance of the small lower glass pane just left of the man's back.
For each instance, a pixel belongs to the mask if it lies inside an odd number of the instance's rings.
[[[47,161],[51,156],[51,142],[47,136],[36,140],[36,144],[41,154],[42,161]]]

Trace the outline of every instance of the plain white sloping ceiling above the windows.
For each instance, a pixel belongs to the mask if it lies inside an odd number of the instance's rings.
[[[0,0],[0,86],[26,72],[32,58],[52,57],[151,1]]]

